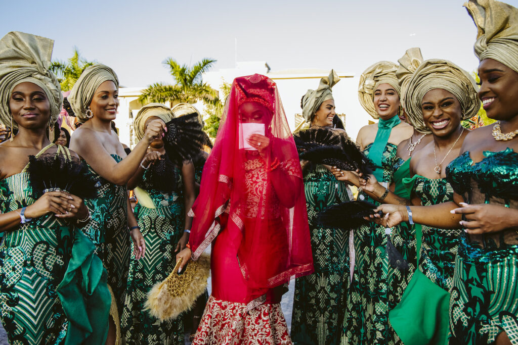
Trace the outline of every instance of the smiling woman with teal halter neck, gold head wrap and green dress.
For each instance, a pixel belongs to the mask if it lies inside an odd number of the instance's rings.
[[[397,65],[381,61],[367,68],[359,83],[359,100],[377,124],[362,127],[356,142],[363,153],[379,168],[374,171],[377,181],[386,191],[393,181],[397,145],[412,136],[413,128],[400,121],[400,86],[396,77]],[[340,174],[341,175],[341,174]],[[347,181],[358,185],[358,176],[344,172]],[[360,200],[375,202],[360,191]],[[383,199],[383,195],[380,199]],[[347,294],[347,314],[343,322],[341,343],[394,343],[397,336],[389,325],[390,279],[396,279],[386,254],[390,234],[384,227],[367,224],[353,230],[354,274]],[[394,245],[394,243],[392,243]],[[404,251],[404,245],[396,250]],[[353,263],[351,263],[353,265]],[[392,277],[392,278],[391,278]],[[397,285],[397,279],[395,281]]]

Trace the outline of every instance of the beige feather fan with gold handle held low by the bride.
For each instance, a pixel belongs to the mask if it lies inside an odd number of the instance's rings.
[[[196,298],[207,288],[210,255],[202,254],[198,260],[185,266],[183,274],[178,274],[181,262],[178,260],[171,274],[156,283],[148,293],[145,309],[161,321],[175,319],[182,312],[192,309]]]

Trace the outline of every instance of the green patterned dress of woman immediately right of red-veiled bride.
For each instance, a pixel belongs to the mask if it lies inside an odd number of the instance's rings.
[[[349,286],[349,231],[321,227],[324,208],[352,200],[352,193],[322,164],[304,177],[314,273],[297,278],[291,338],[296,344],[337,344]]]

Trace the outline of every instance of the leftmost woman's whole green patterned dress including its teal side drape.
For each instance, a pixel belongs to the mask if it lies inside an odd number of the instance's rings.
[[[68,149],[58,146],[56,154],[60,152],[70,158]],[[0,181],[2,213],[36,201],[27,167]],[[104,342],[110,295],[106,271],[93,247],[68,221],[53,214],[5,232],[0,247],[0,312],[10,343]]]

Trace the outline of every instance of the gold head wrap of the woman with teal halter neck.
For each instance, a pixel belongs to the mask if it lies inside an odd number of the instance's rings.
[[[396,77],[397,65],[390,61],[380,61],[367,68],[359,77],[358,99],[363,109],[373,118],[378,118],[374,106],[374,92],[381,84],[390,84],[398,95],[401,95],[401,88]]]

